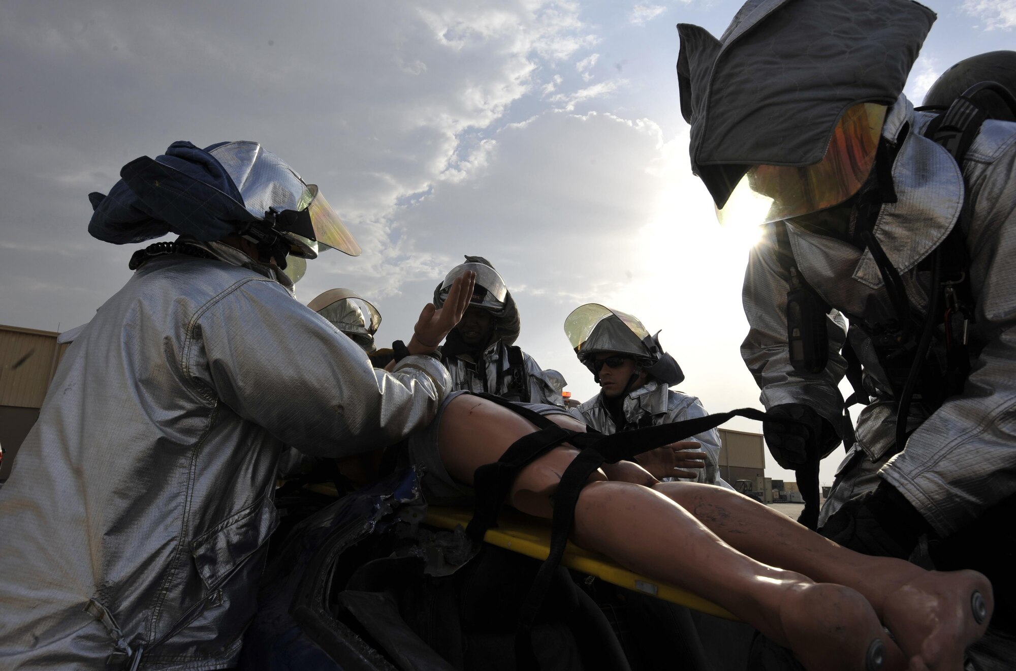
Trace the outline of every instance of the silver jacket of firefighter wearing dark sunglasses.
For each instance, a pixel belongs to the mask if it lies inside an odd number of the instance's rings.
[[[604,435],[612,435],[618,432],[618,427],[614,423],[610,411],[604,406],[602,396],[602,393],[597,393],[578,408],[572,408],[568,412]],[[656,380],[649,380],[637,389],[629,391],[622,403],[622,409],[625,413],[625,421],[629,425],[639,428],[673,424],[708,415],[702,402],[696,396],[674,391]],[[695,478],[679,479],[731,488],[719,477],[719,432],[716,429],[710,429],[692,436],[689,440],[701,443],[701,450],[706,453],[705,468],[699,471]]]

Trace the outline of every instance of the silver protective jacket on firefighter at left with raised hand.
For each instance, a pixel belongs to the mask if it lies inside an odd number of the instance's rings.
[[[148,260],[76,336],[0,490],[0,668],[233,666],[283,445],[343,456],[425,426],[436,359],[388,374],[271,268]],[[126,666],[124,666],[126,668]]]

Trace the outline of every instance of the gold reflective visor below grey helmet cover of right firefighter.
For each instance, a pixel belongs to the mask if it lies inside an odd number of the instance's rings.
[[[768,224],[832,207],[852,196],[875,165],[886,109],[874,103],[847,109],[818,163],[752,166],[723,206],[716,209],[719,223]]]

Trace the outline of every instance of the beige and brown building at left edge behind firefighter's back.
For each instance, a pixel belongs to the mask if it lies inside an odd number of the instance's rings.
[[[50,330],[0,324],[0,481],[6,480],[17,448],[39,417],[50,380],[67,345]]]

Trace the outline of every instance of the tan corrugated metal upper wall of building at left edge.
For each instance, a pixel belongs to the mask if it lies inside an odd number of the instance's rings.
[[[55,332],[0,324],[0,406],[42,407],[67,347]]]

